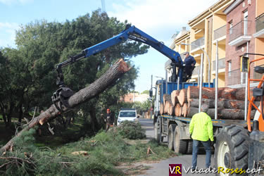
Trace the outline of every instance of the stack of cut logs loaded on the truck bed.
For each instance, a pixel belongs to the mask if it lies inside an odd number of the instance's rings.
[[[245,89],[228,87],[218,88],[218,119],[244,119]],[[202,87],[202,104],[208,104],[206,113],[215,118],[215,88]],[[248,103],[249,104],[249,103]],[[259,101],[255,102],[259,106]],[[172,94],[163,95],[160,113],[191,118],[199,112],[199,87],[175,90]],[[251,118],[256,110],[251,111]]]

